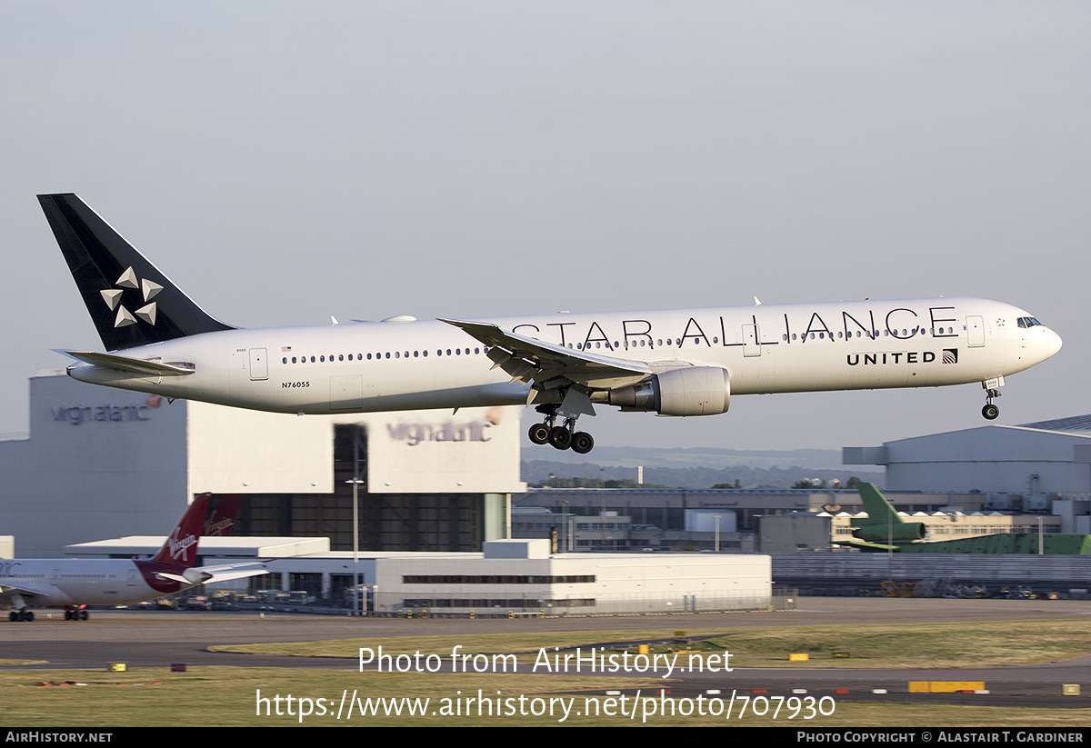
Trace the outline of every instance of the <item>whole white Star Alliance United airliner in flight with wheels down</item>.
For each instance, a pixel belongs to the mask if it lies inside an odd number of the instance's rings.
[[[731,395],[981,382],[995,419],[1004,377],[1060,349],[1030,313],[960,298],[237,329],[77,196],[38,200],[110,351],[69,351],[69,374],[168,398],[288,413],[526,403],[543,414],[532,442],[585,454],[575,424],[595,403],[708,415]]]

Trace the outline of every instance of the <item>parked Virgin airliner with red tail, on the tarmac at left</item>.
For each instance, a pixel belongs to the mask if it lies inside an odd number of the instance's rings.
[[[148,560],[0,558],[0,602],[11,605],[11,620],[34,620],[31,606],[62,607],[65,620],[87,620],[87,605],[132,605],[205,582],[265,574],[259,563],[194,566],[211,503],[212,494],[197,495]],[[213,523],[233,522],[237,509],[236,502],[230,517]]]

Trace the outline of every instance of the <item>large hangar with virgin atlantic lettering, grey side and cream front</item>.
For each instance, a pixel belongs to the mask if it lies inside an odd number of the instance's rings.
[[[0,441],[0,533],[15,555],[163,536],[199,493],[239,494],[236,535],[479,551],[508,536],[520,408],[296,417],[31,379],[31,431]]]

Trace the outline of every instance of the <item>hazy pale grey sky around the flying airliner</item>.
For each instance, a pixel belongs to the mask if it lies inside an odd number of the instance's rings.
[[[998,299],[1065,348],[1009,377],[997,423],[1091,412],[1086,2],[0,10],[0,432],[26,430],[27,377],[65,364],[50,349],[100,348],[40,192],[79,193],[244,327]],[[774,395],[580,426],[839,447],[983,425],[983,403]]]

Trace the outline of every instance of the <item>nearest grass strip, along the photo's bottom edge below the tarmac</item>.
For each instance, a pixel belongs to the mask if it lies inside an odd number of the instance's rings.
[[[82,686],[37,685],[39,681],[76,681]],[[829,716],[804,720],[803,713],[796,719],[788,719],[789,711],[781,709],[777,719],[772,710],[764,716],[751,713],[729,721],[724,715],[700,715],[691,699],[688,715],[686,701],[674,697],[675,713],[662,715],[652,697],[652,702],[638,704],[635,719],[619,713],[618,704],[613,715],[604,713],[606,688],[654,688],[662,681],[638,680],[634,678],[568,678],[563,676],[526,675],[451,675],[451,674],[387,674],[353,673],[344,669],[296,669],[274,667],[193,667],[188,673],[172,674],[164,668],[136,668],[127,673],[105,671],[5,671],[0,672],[0,699],[4,703],[8,724],[27,727],[124,727],[124,726],[556,726],[556,725],[602,725],[602,726],[780,726],[780,727],[890,727],[895,725],[927,725],[930,727],[1081,727],[1091,722],[1089,709],[1020,709],[988,707],[950,707],[928,703],[899,703],[897,696],[882,703],[837,703]],[[477,704],[467,699],[477,699],[478,690],[483,697],[509,699],[516,713],[504,713],[501,702],[500,714],[478,714]],[[579,695],[573,695],[579,689]],[[497,696],[496,691],[501,691]],[[266,715],[257,701],[259,691],[267,698]],[[343,699],[356,693],[361,702],[376,707],[379,714],[361,715],[359,708],[351,717],[336,712]],[[288,696],[293,697],[289,708]],[[280,696],[281,714],[276,714],[275,697]],[[530,711],[535,703],[544,705],[554,699],[554,714],[520,714],[519,697]],[[650,697],[650,693],[646,693]],[[299,716],[299,699],[312,700],[313,713]],[[319,713],[314,700],[324,699],[324,714]],[[535,699],[538,699],[536,702]],[[556,699],[574,699],[567,717],[562,721],[563,710]],[[728,696],[726,695],[724,700]],[[408,714],[401,704],[399,715],[385,715],[375,699],[410,699],[423,707],[424,714]],[[444,700],[447,711],[443,714]],[[590,701],[588,700],[590,699]],[[389,701],[385,703],[391,703]],[[661,702],[660,702],[661,703]],[[775,702],[772,702],[775,703]],[[455,711],[457,704],[457,713]],[[599,714],[588,715],[588,705],[598,704]],[[482,704],[483,705],[483,704]],[[632,709],[633,699],[626,702]],[[648,709],[654,714],[645,717]],[[261,709],[262,713],[259,714]],[[288,712],[292,713],[289,714]],[[433,713],[434,712],[434,713]],[[577,712],[579,712],[577,714]]]

